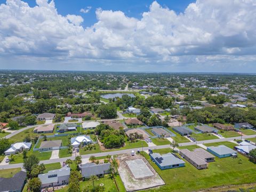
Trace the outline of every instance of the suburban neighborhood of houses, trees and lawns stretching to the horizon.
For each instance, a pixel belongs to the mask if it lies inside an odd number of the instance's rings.
[[[70,72],[60,85],[61,75],[1,72],[2,191],[197,191],[254,178],[254,76]]]

